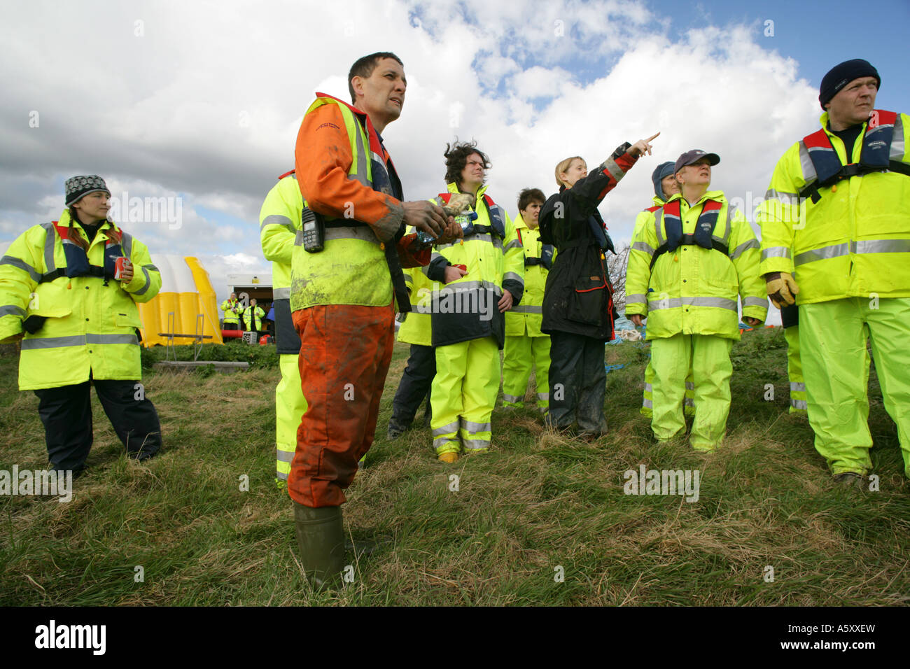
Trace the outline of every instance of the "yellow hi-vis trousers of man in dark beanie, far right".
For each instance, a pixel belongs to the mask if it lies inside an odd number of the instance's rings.
[[[872,339],[875,371],[885,411],[895,421],[910,477],[910,298],[844,298],[799,308],[799,345],[809,424],[815,450],[831,473],[872,468],[869,449],[868,359]]]

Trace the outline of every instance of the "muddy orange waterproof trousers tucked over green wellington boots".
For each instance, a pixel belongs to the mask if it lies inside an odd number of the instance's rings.
[[[376,433],[395,311],[391,304],[334,304],[299,309],[292,319],[300,335],[307,412],[297,431],[288,493],[304,506],[339,506]]]

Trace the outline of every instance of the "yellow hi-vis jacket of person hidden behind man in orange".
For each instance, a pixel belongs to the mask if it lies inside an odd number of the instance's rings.
[[[293,174],[278,180],[259,209],[259,242],[262,255],[272,263],[275,299],[290,297],[290,266],[302,212],[303,196]]]

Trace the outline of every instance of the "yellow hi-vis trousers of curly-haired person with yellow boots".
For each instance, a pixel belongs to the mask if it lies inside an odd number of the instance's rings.
[[[437,454],[486,451],[490,416],[500,390],[500,352],[483,337],[436,347],[436,376],[430,390],[433,448]]]

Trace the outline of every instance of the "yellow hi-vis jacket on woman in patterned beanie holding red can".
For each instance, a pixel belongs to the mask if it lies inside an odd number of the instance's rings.
[[[59,225],[70,225],[69,211]],[[102,223],[86,251],[96,268],[104,267],[111,226]],[[88,239],[77,221],[70,234]],[[35,334],[26,332],[22,340],[19,390],[83,383],[89,374],[99,380],[142,378],[136,302],[157,295],[161,274],[141,241],[123,232],[120,246],[133,263],[133,279],[126,284],[95,276],[42,280],[66,269],[63,240],[51,223],[28,228],[7,249],[0,259],[0,342],[22,333],[25,319],[46,317]]]

